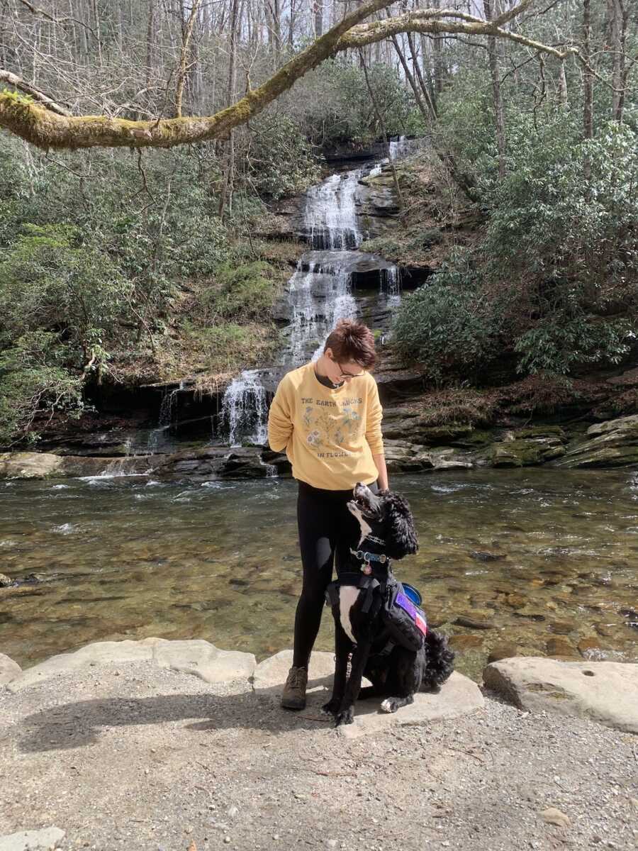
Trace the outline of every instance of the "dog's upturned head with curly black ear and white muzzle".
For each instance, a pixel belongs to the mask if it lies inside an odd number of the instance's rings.
[[[353,488],[352,496],[348,510],[359,524],[357,547],[364,547],[369,552],[385,552],[386,556],[396,559],[419,551],[419,540],[407,500],[390,490],[373,494],[361,482]]]

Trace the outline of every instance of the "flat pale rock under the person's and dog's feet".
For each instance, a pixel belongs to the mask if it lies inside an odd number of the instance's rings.
[[[259,694],[270,695],[278,701],[293,664],[293,651],[282,650],[260,662],[253,676],[253,687]],[[308,702],[300,713],[310,720],[326,722],[321,708],[332,694],[334,656],[332,653],[313,653],[308,668]],[[369,685],[366,679],[363,685]],[[392,714],[381,711],[381,700],[359,700],[355,706],[355,722],[339,727],[339,734],[348,738],[382,732],[390,727],[408,724],[427,724],[441,718],[455,718],[480,709],[483,695],[476,683],[462,674],[453,673],[439,694],[415,694],[414,703]],[[329,720],[328,720],[329,722]]]

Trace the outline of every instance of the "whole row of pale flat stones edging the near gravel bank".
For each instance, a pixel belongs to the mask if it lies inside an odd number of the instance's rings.
[[[191,674],[205,683],[247,680],[258,698],[278,704],[293,664],[293,652],[282,650],[257,664],[251,653],[222,650],[203,639],[144,638],[94,642],[73,653],[52,656],[25,671],[9,656],[0,654],[0,691],[4,686],[9,693],[18,694],[69,672],[86,671],[96,665],[121,666],[139,662]],[[327,700],[333,673],[333,654],[312,654],[307,707],[310,716],[319,713]],[[606,727],[638,734],[638,665],[635,664],[516,656],[487,665],[483,683],[524,711],[587,717]],[[477,684],[455,671],[439,694],[416,694],[413,705],[393,715],[380,711],[380,700],[358,703],[355,725],[340,732],[357,736],[396,724],[459,717],[480,709],[483,703]]]

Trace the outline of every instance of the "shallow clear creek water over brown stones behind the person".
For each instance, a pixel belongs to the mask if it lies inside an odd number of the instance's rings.
[[[420,539],[396,575],[454,636],[459,670],[478,676],[503,642],[638,660],[638,473],[441,471],[391,483]],[[0,483],[0,572],[43,579],[0,590],[0,651],[25,666],[148,636],[205,638],[258,658],[290,647],[295,497],[289,479]],[[332,634],[326,609],[316,647],[332,649]]]

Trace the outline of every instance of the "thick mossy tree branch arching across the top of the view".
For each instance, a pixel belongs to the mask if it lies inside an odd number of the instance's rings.
[[[372,14],[391,5],[391,0],[367,0],[310,47],[288,61],[257,89],[251,89],[232,106],[212,116],[158,118],[156,121],[128,121],[108,116],[64,116],[42,104],[0,94],[0,127],[45,150],[48,148],[90,147],[173,147],[193,142],[226,138],[231,129],[264,110],[280,94],[308,71],[339,51],[359,48],[400,32],[432,34],[465,33],[507,38],[542,53],[564,57],[555,48],[503,29],[508,20],[526,11],[534,0],[521,0],[513,9],[492,21],[483,21],[454,9],[419,9],[396,18],[363,23]]]

